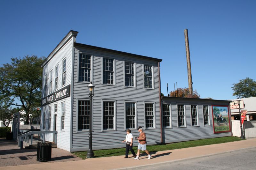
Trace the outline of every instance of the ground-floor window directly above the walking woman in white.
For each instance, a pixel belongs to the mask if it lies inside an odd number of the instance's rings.
[[[125,129],[135,128],[135,103],[125,103]]]

